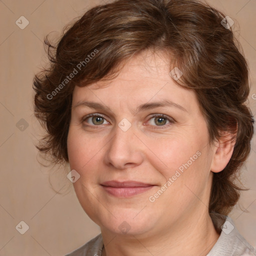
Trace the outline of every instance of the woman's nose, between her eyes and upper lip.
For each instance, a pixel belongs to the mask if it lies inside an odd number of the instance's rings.
[[[105,162],[116,169],[131,168],[143,161],[145,145],[131,127],[124,131],[116,125],[114,134],[105,148]]]

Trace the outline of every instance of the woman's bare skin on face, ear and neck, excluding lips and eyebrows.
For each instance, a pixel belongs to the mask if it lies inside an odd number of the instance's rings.
[[[107,85],[99,81],[74,88],[69,164],[80,175],[73,183],[77,198],[101,228],[103,255],[206,255],[219,237],[207,205],[212,172],[225,167],[233,144],[228,136],[209,143],[194,91],[175,83],[167,63],[162,52],[147,50],[133,55]],[[161,106],[136,111],[140,104],[164,99],[185,110]],[[81,100],[110,109],[74,107]],[[90,113],[103,119],[86,119]],[[164,114],[170,121],[153,114]],[[126,131],[118,126],[123,118],[131,124]],[[150,201],[196,152],[200,153],[197,159],[190,160],[171,185]],[[131,197],[116,197],[100,185],[108,180],[155,186]]]

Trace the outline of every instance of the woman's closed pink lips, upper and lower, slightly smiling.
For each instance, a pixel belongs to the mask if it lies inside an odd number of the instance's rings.
[[[122,182],[110,180],[103,182],[100,185],[108,194],[116,197],[130,197],[137,195],[151,189],[154,186],[153,184],[137,182],[133,180]]]

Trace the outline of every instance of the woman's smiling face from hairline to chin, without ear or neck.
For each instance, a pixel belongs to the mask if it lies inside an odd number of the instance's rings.
[[[101,84],[74,88],[67,138],[88,216],[101,230],[148,235],[206,215],[214,150],[194,91],[150,52]]]

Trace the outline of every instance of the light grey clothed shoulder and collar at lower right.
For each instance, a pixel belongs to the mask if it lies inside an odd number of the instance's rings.
[[[207,256],[256,256],[255,249],[236,229],[232,219],[225,216],[221,233]]]

